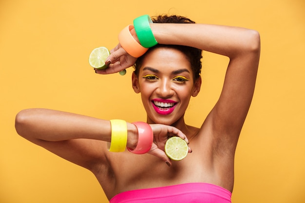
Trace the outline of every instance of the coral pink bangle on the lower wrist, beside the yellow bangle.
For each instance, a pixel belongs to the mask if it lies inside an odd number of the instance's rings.
[[[150,125],[144,122],[133,123],[138,129],[138,144],[135,149],[127,148],[134,154],[145,154],[152,148],[153,132]]]

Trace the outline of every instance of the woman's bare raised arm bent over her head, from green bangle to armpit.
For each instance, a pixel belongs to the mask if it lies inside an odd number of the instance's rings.
[[[235,150],[255,87],[260,57],[258,32],[219,25],[157,23],[152,30],[159,43],[196,47],[229,57],[223,90],[204,126],[211,127],[212,136],[225,141],[226,148]]]

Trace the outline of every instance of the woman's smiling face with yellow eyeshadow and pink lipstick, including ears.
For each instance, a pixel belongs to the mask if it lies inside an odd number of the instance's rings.
[[[145,56],[139,75],[133,74],[133,89],[141,93],[148,123],[172,125],[183,119],[191,96],[200,90],[194,82],[191,63],[172,48],[157,48]]]

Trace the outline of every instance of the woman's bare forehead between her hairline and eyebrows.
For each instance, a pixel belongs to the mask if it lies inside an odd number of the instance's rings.
[[[173,48],[160,47],[149,52],[145,55],[139,71],[145,67],[159,71],[187,69],[192,74],[191,63],[186,55]]]

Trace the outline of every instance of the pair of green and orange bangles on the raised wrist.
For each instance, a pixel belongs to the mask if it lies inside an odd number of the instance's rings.
[[[150,23],[152,19],[148,15],[140,16],[133,20],[133,25],[128,25],[119,33],[118,40],[129,55],[140,57],[148,48],[158,44],[152,34]],[[137,36],[140,43],[133,36]]]

